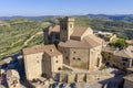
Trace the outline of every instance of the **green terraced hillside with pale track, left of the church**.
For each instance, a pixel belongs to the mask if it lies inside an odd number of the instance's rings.
[[[38,34],[28,42],[28,45],[24,45],[27,40],[37,32],[41,32],[42,28],[47,25],[49,25],[48,22],[32,21],[28,19],[0,21],[0,58],[20,52],[22,47],[43,43],[43,34]]]

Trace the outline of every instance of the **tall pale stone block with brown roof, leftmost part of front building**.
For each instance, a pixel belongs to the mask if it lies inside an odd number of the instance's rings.
[[[27,79],[32,80],[42,75],[43,45],[23,48],[24,68]]]

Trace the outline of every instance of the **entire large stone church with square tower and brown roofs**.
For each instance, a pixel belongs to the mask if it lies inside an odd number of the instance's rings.
[[[91,28],[75,26],[73,18],[62,18],[60,25],[44,29],[44,40],[45,44],[58,46],[66,65],[89,70],[101,66],[103,41],[93,34]]]

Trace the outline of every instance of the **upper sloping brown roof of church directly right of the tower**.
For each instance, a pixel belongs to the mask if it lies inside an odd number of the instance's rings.
[[[83,33],[88,30],[88,28],[83,26],[74,26],[74,32],[72,33],[71,37],[80,37]]]

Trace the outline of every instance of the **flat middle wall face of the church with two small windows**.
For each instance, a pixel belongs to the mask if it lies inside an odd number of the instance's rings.
[[[89,50],[88,48],[70,48],[70,66],[88,69]]]

